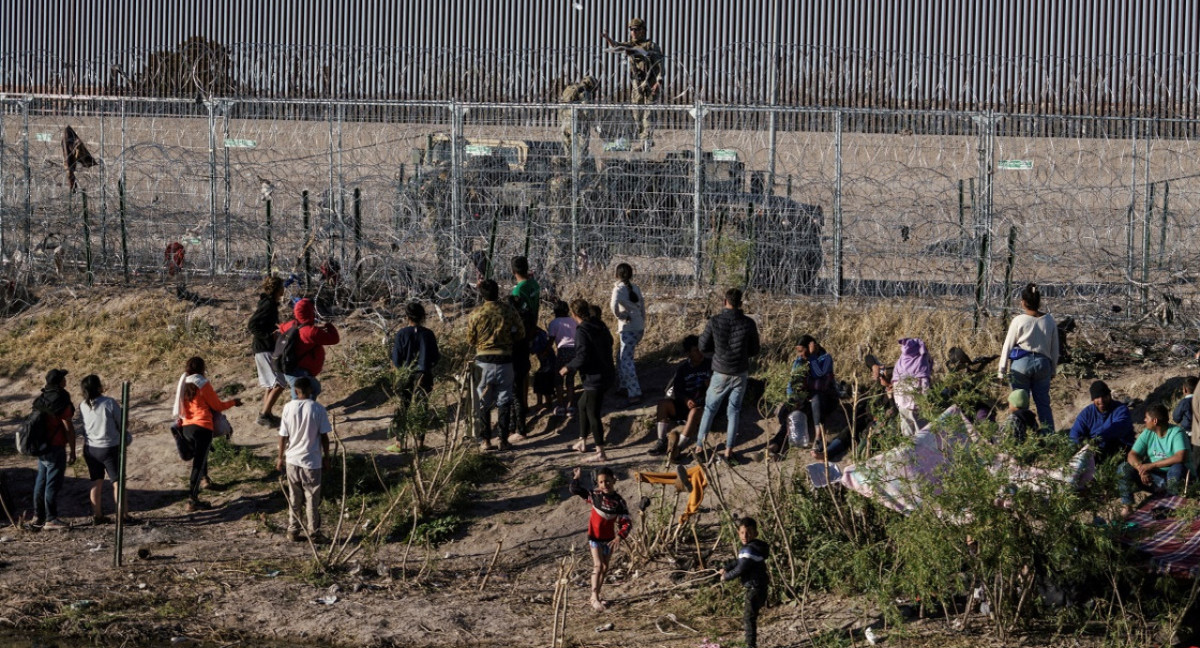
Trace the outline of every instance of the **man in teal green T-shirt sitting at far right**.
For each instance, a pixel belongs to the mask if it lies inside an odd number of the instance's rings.
[[[1145,425],[1126,461],[1117,468],[1123,516],[1133,512],[1134,488],[1178,494],[1187,474],[1189,443],[1178,426],[1168,422],[1166,408],[1160,404],[1147,407]]]

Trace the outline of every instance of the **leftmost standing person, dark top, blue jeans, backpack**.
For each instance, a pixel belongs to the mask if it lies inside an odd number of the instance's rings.
[[[76,460],[74,404],[66,388],[66,370],[50,370],[46,373],[46,386],[34,398],[34,409],[44,414],[47,426],[47,450],[37,456],[34,480],[34,526],[47,530],[71,528],[59,520],[59,491],[66,481],[67,464],[74,464]]]

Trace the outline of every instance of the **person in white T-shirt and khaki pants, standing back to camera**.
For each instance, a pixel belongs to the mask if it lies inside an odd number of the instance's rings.
[[[329,433],[334,426],[325,407],[312,400],[312,378],[296,379],[299,398],[283,406],[280,422],[280,452],[275,469],[288,476],[288,540],[300,540],[300,514],[312,541],[320,535],[320,475],[329,469]]]

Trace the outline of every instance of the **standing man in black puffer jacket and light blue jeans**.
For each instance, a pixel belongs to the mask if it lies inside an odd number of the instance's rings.
[[[732,461],[738,421],[742,418],[742,397],[750,373],[750,358],[758,355],[758,325],[742,312],[740,289],[730,288],[725,292],[725,310],[708,320],[700,336],[700,350],[713,354],[713,379],[704,395],[704,415],[700,420],[696,449],[703,452],[704,438],[713,428],[713,419],[716,418],[721,402],[728,397],[724,458]]]

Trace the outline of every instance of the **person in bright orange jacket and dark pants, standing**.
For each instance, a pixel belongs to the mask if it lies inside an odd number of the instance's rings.
[[[184,438],[194,448],[187,491],[188,511],[211,508],[209,503],[200,500],[200,480],[209,472],[209,449],[212,446],[212,431],[216,427],[214,415],[230,407],[241,407],[241,398],[232,401],[218,398],[212,383],[204,377],[204,371],[203,358],[188,358],[175,390],[175,418],[182,428]]]

